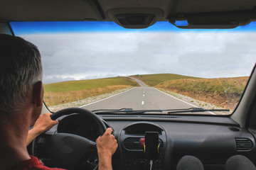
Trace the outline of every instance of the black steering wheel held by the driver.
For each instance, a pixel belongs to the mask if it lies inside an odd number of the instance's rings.
[[[95,113],[84,108],[65,108],[53,113],[51,118],[56,120],[60,118],[60,116],[73,113],[84,116],[92,121],[92,123],[95,123],[100,135],[103,135],[107,129],[105,124]],[[57,131],[52,134],[45,133],[44,136],[47,146],[47,157],[58,167],[64,169],[79,169],[81,167],[86,167],[87,169],[96,168],[97,148],[96,143],[92,140],[69,133],[58,133]],[[36,153],[37,143],[38,139],[33,140],[32,152],[34,154]],[[92,164],[92,162],[94,163]]]

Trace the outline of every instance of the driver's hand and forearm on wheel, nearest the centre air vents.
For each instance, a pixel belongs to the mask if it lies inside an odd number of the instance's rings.
[[[107,128],[105,133],[96,140],[99,157],[99,170],[112,169],[112,154],[117,150],[117,140],[111,135],[112,128]]]

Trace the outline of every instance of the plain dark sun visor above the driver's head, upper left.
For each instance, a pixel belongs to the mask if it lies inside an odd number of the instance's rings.
[[[0,21],[101,21],[93,0],[0,1]]]

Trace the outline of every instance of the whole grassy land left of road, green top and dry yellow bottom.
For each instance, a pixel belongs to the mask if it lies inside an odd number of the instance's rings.
[[[64,81],[55,84],[44,84],[44,101],[47,106],[79,101],[91,96],[111,93],[119,89],[139,86],[136,81],[127,77]]]

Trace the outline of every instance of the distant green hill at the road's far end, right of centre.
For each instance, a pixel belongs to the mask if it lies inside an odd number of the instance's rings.
[[[198,77],[188,77],[179,74],[142,74],[132,75],[136,79],[143,81],[149,86],[156,86],[164,81],[170,81],[174,79],[199,79]]]

